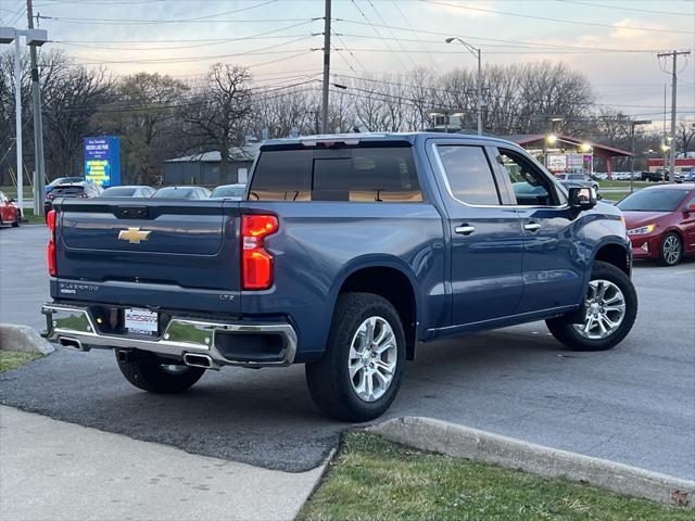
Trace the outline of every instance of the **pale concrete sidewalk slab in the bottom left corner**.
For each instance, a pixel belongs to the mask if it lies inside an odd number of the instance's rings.
[[[0,406],[1,520],[290,520],[323,468],[197,456]]]

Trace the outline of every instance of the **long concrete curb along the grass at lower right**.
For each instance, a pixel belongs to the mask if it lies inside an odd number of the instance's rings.
[[[424,450],[520,469],[544,478],[586,482],[629,496],[695,508],[695,481],[606,459],[544,447],[430,418],[399,418],[368,430],[392,442]]]

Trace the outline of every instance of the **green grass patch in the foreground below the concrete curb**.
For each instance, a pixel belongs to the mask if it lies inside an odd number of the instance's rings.
[[[298,520],[693,520],[693,511],[348,433]]]

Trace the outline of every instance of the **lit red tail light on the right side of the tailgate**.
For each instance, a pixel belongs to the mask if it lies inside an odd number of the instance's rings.
[[[244,290],[267,290],[273,285],[273,255],[263,247],[264,239],[278,231],[275,215],[241,217],[241,280]]]

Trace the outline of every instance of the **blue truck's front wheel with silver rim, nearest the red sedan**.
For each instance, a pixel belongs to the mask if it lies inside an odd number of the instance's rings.
[[[597,302],[594,302],[594,297]],[[618,300],[614,301],[614,297]],[[620,297],[623,306],[621,316]],[[592,310],[597,313],[592,314]],[[582,317],[581,323],[576,322],[578,314]],[[636,316],[637,293],[630,278],[612,264],[596,260],[591,272],[584,307],[578,313],[547,319],[545,323],[553,336],[571,351],[606,351],[628,335]],[[608,320],[617,323],[612,330],[606,328]],[[609,331],[608,334],[603,334],[604,329]]]

